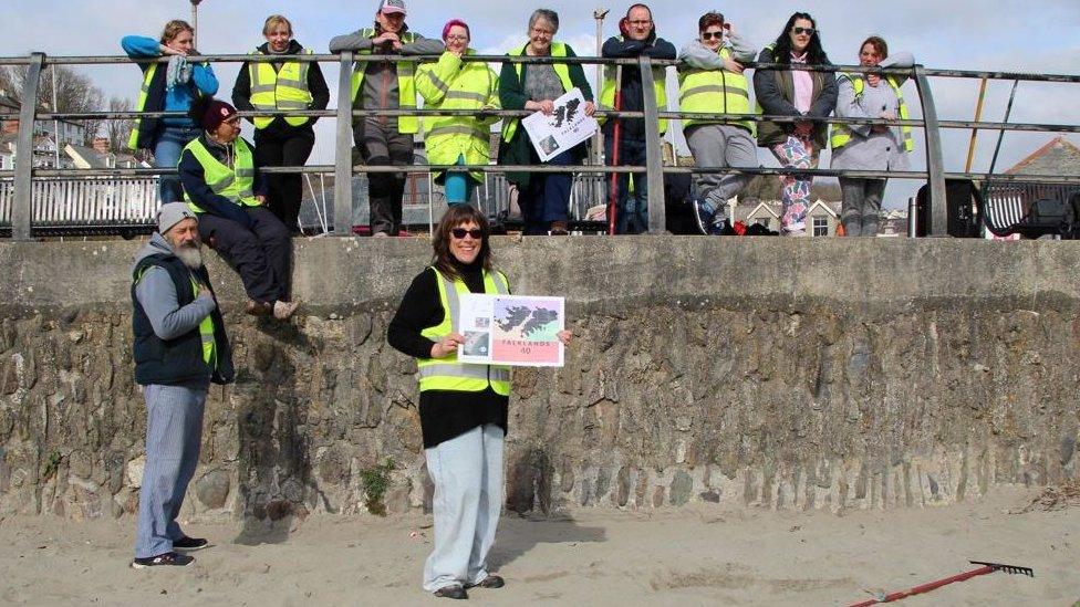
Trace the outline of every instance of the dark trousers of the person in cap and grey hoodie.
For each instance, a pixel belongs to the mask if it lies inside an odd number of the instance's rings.
[[[397,119],[360,121],[353,138],[365,165],[413,164],[413,136],[397,132]],[[405,195],[404,172],[367,174],[367,199],[371,205],[372,233],[397,236],[402,229],[402,197]]]

